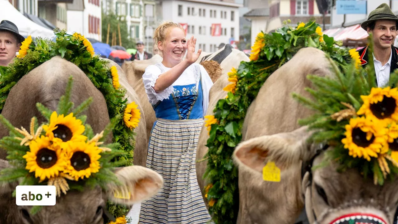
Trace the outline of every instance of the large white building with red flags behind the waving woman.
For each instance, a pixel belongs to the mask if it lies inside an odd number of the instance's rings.
[[[197,49],[215,52],[221,43],[239,40],[239,7],[217,0],[163,0],[161,18],[186,24],[187,38],[196,37]]]

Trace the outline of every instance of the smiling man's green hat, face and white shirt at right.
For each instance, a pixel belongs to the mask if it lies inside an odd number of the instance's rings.
[[[377,86],[379,87],[388,84],[390,73],[398,69],[398,48],[393,46],[397,35],[397,24],[398,17],[385,3],[373,10],[369,14],[368,20],[361,24],[363,29],[373,35],[373,56],[367,53],[369,46],[358,50],[361,64],[365,67],[369,56],[373,58]]]

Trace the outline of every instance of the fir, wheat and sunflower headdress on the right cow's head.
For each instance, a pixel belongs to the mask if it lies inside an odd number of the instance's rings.
[[[371,43],[370,54],[372,48]],[[334,146],[325,159],[337,162],[339,171],[356,168],[383,185],[389,175],[398,174],[398,73],[391,74],[387,86],[378,88],[373,60],[363,69],[357,53],[351,50],[350,55],[352,65],[343,73],[330,60],[336,77],[308,76],[316,86],[308,88],[314,100],[293,95],[318,111],[300,124],[317,129],[314,141]]]

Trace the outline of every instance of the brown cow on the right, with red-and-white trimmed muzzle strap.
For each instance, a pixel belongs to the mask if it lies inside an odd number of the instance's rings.
[[[250,105],[243,142],[234,151],[239,164],[237,223],[293,224],[304,208],[305,194],[310,223],[392,224],[398,202],[396,179],[380,187],[365,180],[358,170],[338,173],[336,164],[301,176],[302,163],[310,161],[320,147],[307,141],[311,132],[297,123],[314,111],[291,94],[310,97],[304,88],[313,86],[306,75],[330,76],[329,68],[324,52],[301,49],[267,79]],[[317,156],[313,165],[318,165],[322,156]],[[280,182],[262,180],[268,161],[280,168]]]

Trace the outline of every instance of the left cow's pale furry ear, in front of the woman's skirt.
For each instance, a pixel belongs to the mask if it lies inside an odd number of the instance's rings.
[[[154,196],[163,186],[163,178],[155,171],[133,165],[115,170],[119,184],[108,185],[108,199],[117,203],[132,205]]]

